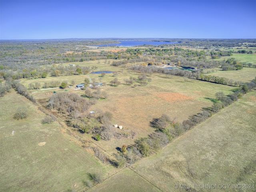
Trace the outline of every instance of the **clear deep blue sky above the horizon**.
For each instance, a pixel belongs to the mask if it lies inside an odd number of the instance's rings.
[[[256,38],[256,0],[0,0],[0,39]]]

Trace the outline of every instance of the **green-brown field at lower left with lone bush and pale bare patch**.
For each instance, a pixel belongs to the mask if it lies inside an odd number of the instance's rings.
[[[12,118],[18,106],[28,108],[28,119]],[[0,191],[78,192],[87,173],[112,170],[65,138],[58,122],[42,124],[45,114],[13,90],[0,98],[0,109]]]

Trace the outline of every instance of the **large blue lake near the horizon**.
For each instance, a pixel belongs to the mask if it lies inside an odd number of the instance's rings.
[[[125,47],[132,47],[132,46],[138,46],[138,45],[162,45],[162,44],[175,44],[178,42],[159,42],[159,41],[120,41],[120,43],[114,43],[114,44],[105,44],[105,45],[95,45],[98,47],[103,46],[125,46]]]

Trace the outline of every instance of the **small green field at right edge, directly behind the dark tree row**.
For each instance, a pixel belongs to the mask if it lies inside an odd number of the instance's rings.
[[[209,75],[226,77],[234,81],[250,82],[256,77],[256,68],[244,67],[242,70],[223,71],[221,68],[216,68],[218,71],[209,73]]]

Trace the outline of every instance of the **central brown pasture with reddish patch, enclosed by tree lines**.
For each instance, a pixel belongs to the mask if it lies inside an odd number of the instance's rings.
[[[91,66],[98,64],[98,62],[78,62],[78,64]],[[153,118],[158,118],[162,114],[168,114],[173,119],[176,118],[176,122],[182,123],[183,120],[188,119],[189,116],[197,114],[204,107],[212,106],[211,98],[214,98],[214,94],[218,91],[223,91],[225,94],[231,92],[235,87],[226,86],[221,84],[214,84],[209,82],[203,82],[195,80],[192,82],[190,79],[184,82],[182,77],[173,76],[172,78],[166,78],[163,74],[152,74],[152,82],[147,86],[138,85],[136,88],[124,84],[123,79],[130,76],[137,78],[139,74],[133,74],[128,70],[109,66],[103,62],[98,64],[98,69],[119,71],[118,76],[114,77],[112,74],[106,74],[102,78],[102,82],[107,84],[114,78],[118,78],[122,84],[118,87],[107,85],[102,87],[102,91],[108,93],[106,100],[98,100],[96,105],[92,106],[90,110],[97,110],[100,108],[103,111],[109,111],[113,114],[113,124],[122,125],[124,130],[134,130],[138,133],[136,138],[145,137],[154,131],[154,128],[150,126],[150,121]],[[101,74],[89,74],[90,78],[100,79]],[[47,77],[44,79],[30,79],[22,80],[22,84],[28,86],[30,82],[41,82],[59,80],[75,80],[77,83],[83,82],[87,75],[76,76],[60,76],[60,77]],[[139,84],[139,82],[134,82]],[[68,92],[76,92],[80,95],[84,94],[82,90],[74,90],[73,88],[67,88]],[[31,92],[36,90],[31,90]],[[63,92],[64,90],[57,89],[57,92]],[[53,90],[38,90],[34,93],[36,99],[46,101],[50,98]],[[89,136],[89,139],[93,141]],[[97,142],[99,146],[104,148],[108,152],[116,152],[116,147],[120,147],[123,144],[132,144],[132,139],[119,139]]]

